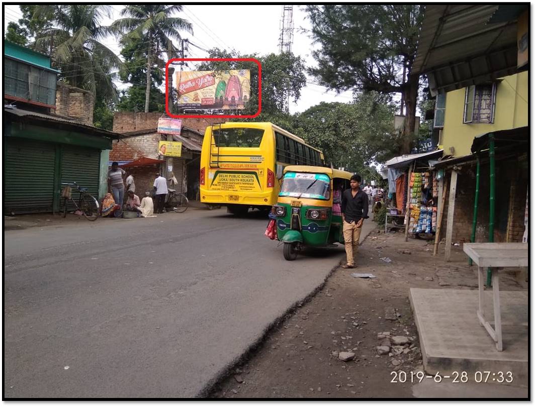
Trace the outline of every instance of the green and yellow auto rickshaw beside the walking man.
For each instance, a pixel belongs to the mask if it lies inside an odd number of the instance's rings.
[[[305,246],[344,244],[340,197],[351,177],[350,172],[331,168],[285,167],[271,216],[276,219],[277,239],[284,243],[286,260],[295,260]]]

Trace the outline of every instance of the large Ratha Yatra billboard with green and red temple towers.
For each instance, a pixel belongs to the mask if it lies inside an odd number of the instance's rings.
[[[192,109],[244,109],[250,99],[250,71],[176,72],[178,105]]]

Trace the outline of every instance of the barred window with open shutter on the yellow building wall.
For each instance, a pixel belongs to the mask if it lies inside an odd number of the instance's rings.
[[[495,83],[466,87],[464,123],[493,123],[495,97]]]

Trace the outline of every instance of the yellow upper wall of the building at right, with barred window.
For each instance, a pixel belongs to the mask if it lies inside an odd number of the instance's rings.
[[[437,98],[435,127],[441,128],[443,124],[439,148],[443,148],[444,155],[469,155],[473,139],[478,135],[528,126],[526,71]]]

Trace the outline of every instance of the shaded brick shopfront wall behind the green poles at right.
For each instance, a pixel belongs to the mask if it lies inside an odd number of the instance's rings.
[[[465,165],[458,174],[452,242],[471,241],[473,226],[474,193],[476,186],[476,163]],[[497,157],[495,180],[495,225],[494,241],[521,242],[524,231],[525,202],[528,171],[517,159],[502,160]],[[450,171],[446,174],[450,183]],[[511,185],[516,191],[511,197]],[[449,184],[450,185],[450,184]],[[450,187],[449,190],[450,191]],[[448,193],[448,192],[447,192]],[[510,208],[511,206],[511,208]],[[445,200],[441,238],[446,237],[449,197]],[[509,222],[510,221],[510,222]],[[476,242],[488,242],[489,238],[489,162],[480,167],[480,190],[478,200]]]

